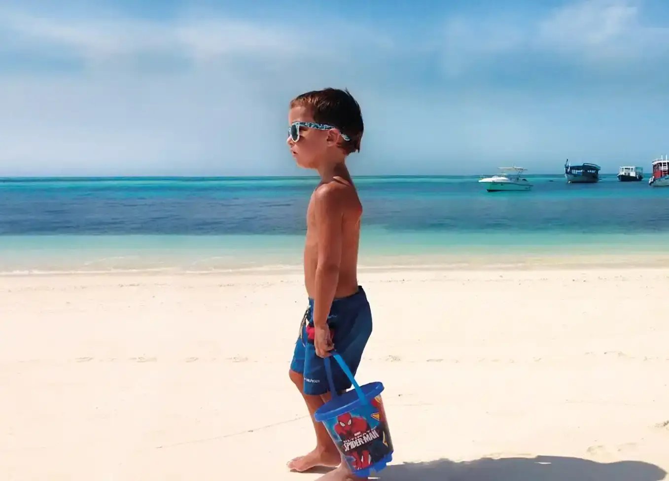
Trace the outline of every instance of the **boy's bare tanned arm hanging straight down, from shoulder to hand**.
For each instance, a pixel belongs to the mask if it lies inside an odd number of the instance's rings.
[[[314,207],[318,231],[318,263],[314,292],[314,347],[320,357],[328,356],[332,349],[330,330],[327,326],[330,306],[339,282],[341,262],[343,199],[341,187],[325,185],[316,193]],[[320,334],[320,335],[319,335]]]

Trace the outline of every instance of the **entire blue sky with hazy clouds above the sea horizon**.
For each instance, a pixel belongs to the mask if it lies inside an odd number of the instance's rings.
[[[0,0],[0,176],[300,175],[288,104],[361,104],[354,175],[669,154],[669,2]]]

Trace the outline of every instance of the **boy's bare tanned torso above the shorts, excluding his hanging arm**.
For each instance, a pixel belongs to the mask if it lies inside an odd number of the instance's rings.
[[[309,297],[315,296],[316,268],[318,267],[318,226],[322,219],[318,219],[314,208],[314,196],[318,189],[337,189],[337,195],[343,203],[341,222],[341,258],[339,262],[339,280],[334,297],[341,298],[355,294],[358,289],[358,246],[360,240],[360,221],[363,207],[353,186],[353,181],[346,175],[334,177],[330,183],[321,184],[314,190],[306,211],[306,242],[304,245],[304,285]]]

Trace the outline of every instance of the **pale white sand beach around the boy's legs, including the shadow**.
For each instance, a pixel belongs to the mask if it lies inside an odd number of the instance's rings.
[[[669,471],[669,270],[361,273],[383,480]],[[0,278],[3,480],[312,480],[299,274]],[[541,458],[536,458],[541,456]]]

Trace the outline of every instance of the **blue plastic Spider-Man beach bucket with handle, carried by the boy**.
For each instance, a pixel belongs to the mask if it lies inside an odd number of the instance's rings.
[[[334,357],[353,384],[353,389],[342,395],[334,391],[330,357]],[[314,419],[324,424],[351,472],[367,478],[393,460],[393,442],[381,400],[383,384],[358,385],[342,357],[337,353],[330,357],[324,363],[332,399],[318,408]]]

